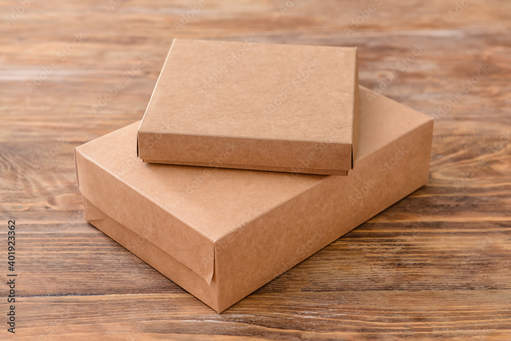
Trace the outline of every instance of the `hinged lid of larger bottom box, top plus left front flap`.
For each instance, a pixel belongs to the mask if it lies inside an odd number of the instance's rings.
[[[361,94],[361,108],[369,119],[363,124],[360,159],[431,122],[428,116],[384,97],[370,105],[367,95],[376,95],[362,87]],[[382,110],[392,116],[379,115]],[[144,164],[131,144],[138,124],[75,148],[78,187],[105,214],[132,226],[133,232],[207,283],[214,275],[217,241],[328,177]],[[133,221],[144,223],[134,225]]]

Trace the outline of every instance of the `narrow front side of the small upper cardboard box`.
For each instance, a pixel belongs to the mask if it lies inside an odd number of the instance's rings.
[[[352,168],[352,144],[138,131],[138,156],[177,165],[281,169],[312,174]],[[332,173],[327,173],[332,174]]]

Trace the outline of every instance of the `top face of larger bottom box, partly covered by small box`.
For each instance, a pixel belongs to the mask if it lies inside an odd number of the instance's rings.
[[[363,87],[360,101],[363,115],[357,160],[431,120]],[[388,115],[381,115],[381,112]],[[326,177],[145,164],[134,152],[138,124],[104,135],[77,147],[76,151],[212,241]]]

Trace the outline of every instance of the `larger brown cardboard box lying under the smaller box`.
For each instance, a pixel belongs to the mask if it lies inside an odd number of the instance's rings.
[[[146,164],[131,124],[75,149],[85,218],[221,312],[427,183],[433,120],[363,87],[360,112],[349,176]]]

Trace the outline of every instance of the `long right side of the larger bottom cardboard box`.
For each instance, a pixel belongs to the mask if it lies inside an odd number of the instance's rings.
[[[220,310],[425,185],[432,127],[423,123],[357,160],[349,176],[329,176],[217,241]]]

